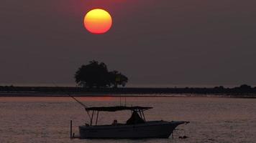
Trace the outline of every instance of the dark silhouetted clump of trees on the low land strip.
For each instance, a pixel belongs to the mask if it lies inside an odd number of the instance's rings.
[[[89,61],[82,65],[75,74],[76,83],[82,87],[123,87],[128,78],[119,71],[109,71],[104,62]]]

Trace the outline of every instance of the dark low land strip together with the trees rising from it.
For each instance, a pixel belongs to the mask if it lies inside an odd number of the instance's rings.
[[[89,61],[78,67],[73,75],[77,87],[16,87],[0,86],[0,97],[21,96],[67,96],[66,93],[76,96],[221,96],[256,98],[256,87],[242,84],[239,87],[168,87],[168,88],[141,88],[125,87],[128,77],[120,71],[109,71],[104,62]],[[122,88],[120,88],[122,87]]]

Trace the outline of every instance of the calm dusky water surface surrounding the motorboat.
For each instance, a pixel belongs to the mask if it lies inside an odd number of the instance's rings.
[[[88,106],[119,105],[119,97],[79,97]],[[124,97],[121,99],[124,104]],[[182,120],[174,139],[69,139],[69,123],[88,122],[70,97],[0,97],[0,142],[256,142],[256,99],[214,97],[127,97],[127,105],[151,106],[147,120]],[[131,112],[102,112],[100,124],[125,122]],[[180,136],[188,139],[179,139]]]

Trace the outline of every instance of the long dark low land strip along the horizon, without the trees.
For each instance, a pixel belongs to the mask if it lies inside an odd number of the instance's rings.
[[[67,97],[74,96],[166,96],[170,94],[184,94],[185,96],[219,95],[222,97],[256,98],[256,87],[246,84],[240,87],[225,88],[82,88],[82,87],[0,87],[0,97]],[[192,94],[192,95],[191,95]]]

